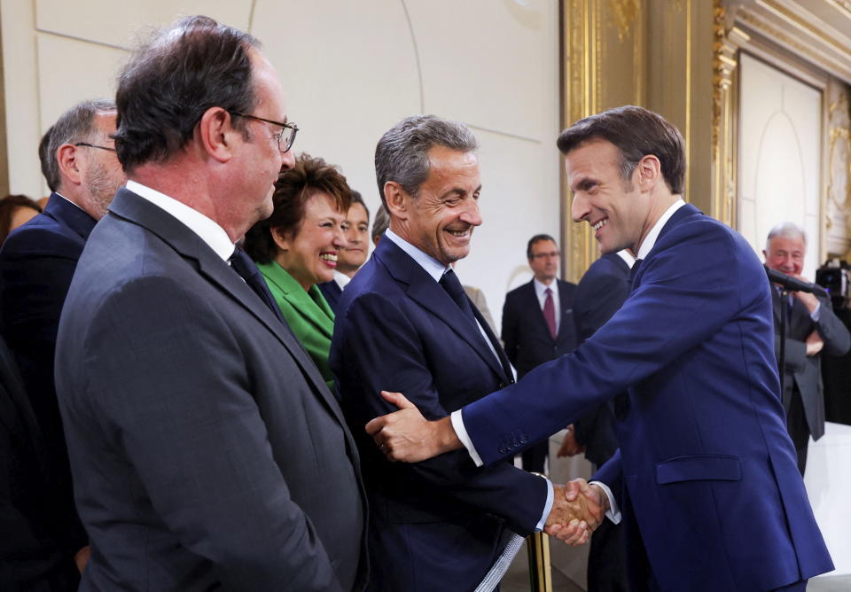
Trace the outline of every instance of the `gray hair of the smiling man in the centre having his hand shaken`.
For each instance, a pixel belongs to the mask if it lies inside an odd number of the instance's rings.
[[[428,151],[434,146],[473,152],[479,144],[463,123],[435,115],[411,115],[381,136],[375,147],[375,175],[385,207],[384,185],[388,181],[399,183],[410,196],[417,197],[428,178]]]

